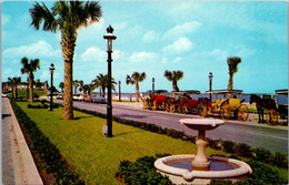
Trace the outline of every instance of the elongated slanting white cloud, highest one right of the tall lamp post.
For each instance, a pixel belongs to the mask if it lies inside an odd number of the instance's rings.
[[[185,37],[187,34],[191,34],[196,32],[201,27],[201,23],[198,21],[185,22],[183,24],[178,24],[167,31],[162,39],[176,39],[180,37]]]

